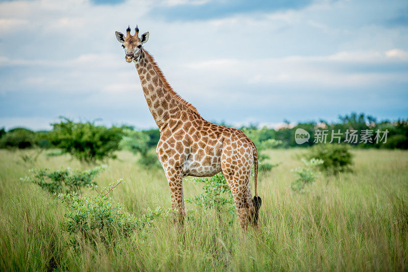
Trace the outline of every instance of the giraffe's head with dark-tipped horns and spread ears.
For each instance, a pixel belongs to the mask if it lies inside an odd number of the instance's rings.
[[[116,39],[118,39],[124,48],[124,52],[126,54],[124,59],[127,62],[138,61],[140,56],[140,48],[142,48],[142,45],[149,39],[149,33],[144,33],[139,39],[139,29],[137,26],[134,36],[131,35],[131,28],[129,26],[126,30],[126,37],[117,31],[115,34]]]

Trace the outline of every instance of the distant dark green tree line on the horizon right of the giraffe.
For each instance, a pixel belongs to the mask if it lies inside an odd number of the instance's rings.
[[[226,125],[225,123],[219,123],[220,125]],[[303,144],[297,144],[295,140],[295,132],[298,128],[302,128],[310,134],[310,139],[308,142]],[[319,122],[301,122],[295,126],[291,126],[289,121],[285,121],[285,125],[281,128],[259,128],[256,124],[249,126],[239,127],[244,131],[248,137],[254,143],[261,143],[270,140],[281,141],[279,147],[289,148],[289,147],[308,147],[313,146],[321,141],[316,141],[316,131],[325,131],[327,133],[326,143],[330,143],[332,132],[336,134],[333,143],[346,143],[351,146],[357,146],[359,148],[388,148],[388,149],[408,149],[408,119],[398,119],[396,121],[382,120],[377,121],[376,118],[372,116],[366,116],[364,113],[356,114],[351,113],[350,115],[339,116],[338,122],[327,122],[324,120],[319,120]],[[348,133],[347,133],[348,131]],[[356,131],[358,138],[356,141],[348,141],[352,131]],[[376,131],[380,132],[380,137],[384,137],[384,133],[387,133],[387,137],[375,139]],[[149,136],[149,147],[156,147],[160,139],[159,129],[144,130]],[[368,139],[362,141],[361,134],[367,132]],[[372,133],[372,135],[370,135]],[[352,140],[352,139],[351,139]],[[386,142],[385,142],[386,140]]]

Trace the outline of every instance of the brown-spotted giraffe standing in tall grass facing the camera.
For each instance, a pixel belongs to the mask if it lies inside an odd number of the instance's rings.
[[[258,226],[262,200],[258,196],[258,152],[239,129],[216,125],[203,119],[197,109],[181,98],[168,84],[153,57],[143,48],[149,33],[139,38],[130,27],[126,36],[116,32],[125,51],[125,61],[134,62],[150,113],[160,130],[157,156],[170,186],[173,220],[183,225],[185,206],[183,178],[209,177],[222,172],[231,189],[239,225]],[[252,163],[255,165],[255,196],[250,191]]]

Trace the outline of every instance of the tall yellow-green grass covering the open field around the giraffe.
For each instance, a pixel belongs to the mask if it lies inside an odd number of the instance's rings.
[[[272,163],[260,175],[261,233],[243,233],[211,211],[191,204],[198,220],[180,232],[172,219],[160,219],[146,235],[135,232],[114,246],[68,247],[61,231],[64,207],[37,185],[20,181],[31,168],[87,169],[68,155],[23,162],[34,151],[0,150],[0,270],[407,270],[408,152],[354,150],[354,173],[320,175],[304,193],[292,192],[302,150],[270,150]],[[145,170],[131,153],[119,152],[96,179],[105,185],[127,182],[115,200],[131,213],[170,207],[162,170]],[[252,183],[253,184],[253,183]],[[252,186],[253,187],[253,186]],[[200,186],[184,182],[185,197]]]

